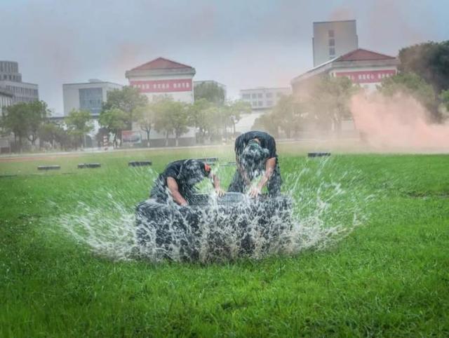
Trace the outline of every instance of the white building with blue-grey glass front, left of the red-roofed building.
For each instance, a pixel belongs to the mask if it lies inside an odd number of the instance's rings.
[[[62,85],[64,115],[67,116],[75,109],[90,111],[92,116],[97,117],[100,115],[103,102],[107,100],[107,92],[120,88],[122,86],[118,83],[98,79],[91,79],[86,83],[64,83]]]

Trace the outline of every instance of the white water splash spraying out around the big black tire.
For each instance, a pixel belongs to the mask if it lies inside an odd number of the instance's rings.
[[[187,229],[187,234],[195,234],[195,231],[201,234],[196,238],[197,259],[201,262],[235,259],[242,255],[241,241],[246,236],[252,238],[253,248],[244,252],[244,255],[254,259],[267,255],[296,255],[311,248],[328,248],[341,240],[367,219],[366,206],[373,195],[368,194],[360,184],[361,173],[354,170],[342,173],[333,169],[333,161],[329,159],[304,161],[288,170],[290,174],[283,175],[283,188],[288,187],[285,194],[293,198],[291,224],[287,231],[285,218],[278,217],[276,212],[267,224],[267,231],[253,226],[260,222],[257,218],[253,218],[243,232],[236,231],[239,227],[235,227],[235,224],[241,221],[239,216],[233,215],[234,222],[229,222],[229,215],[220,212],[217,203],[210,203],[207,212],[204,210],[199,213],[194,229]],[[218,168],[217,171],[222,177],[232,175],[225,168]],[[138,177],[136,173],[128,180],[148,182],[148,177],[145,180]],[[137,203],[126,182],[116,187],[113,191],[103,188],[90,191],[89,198],[79,198],[85,201],[78,203],[72,212],[62,213],[55,219],[55,224],[59,224],[66,234],[95,254],[117,260],[136,259],[142,257],[135,227]],[[94,202],[105,201],[105,198],[108,201],[106,205]],[[279,236],[279,229],[283,229],[282,236]],[[173,238],[177,238],[173,241],[175,245],[169,249],[158,245],[156,235],[149,234],[145,257],[154,261],[164,257],[173,260],[185,257],[182,245],[176,243],[186,241],[186,231],[176,233],[174,228],[169,231],[172,231]],[[222,245],[227,248],[225,251],[220,245],[211,245],[209,239],[212,235],[215,238],[219,235],[220,243],[226,244]]]

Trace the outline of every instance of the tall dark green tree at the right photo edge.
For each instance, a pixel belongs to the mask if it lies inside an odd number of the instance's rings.
[[[449,41],[429,41],[402,48],[399,60],[399,71],[417,74],[437,94],[449,89]]]

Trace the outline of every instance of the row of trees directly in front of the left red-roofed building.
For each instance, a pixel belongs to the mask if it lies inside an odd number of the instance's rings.
[[[147,135],[149,147],[152,130],[163,133],[166,145],[172,135],[177,145],[189,127],[196,130],[196,142],[227,138],[229,128],[235,133],[241,114],[250,112],[250,105],[246,102],[225,102],[224,91],[215,83],[204,83],[195,89],[195,93],[194,103],[188,104],[167,96],[148,102],[146,96],[132,87],[112,90],[107,95],[99,122],[107,133],[113,135],[114,144],[121,137],[121,131],[131,129],[135,123]]]

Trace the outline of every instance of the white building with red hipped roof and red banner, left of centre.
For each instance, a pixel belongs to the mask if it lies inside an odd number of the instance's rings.
[[[149,101],[171,97],[175,101],[194,102],[195,69],[182,63],[157,58],[126,72],[130,86],[147,95]]]

